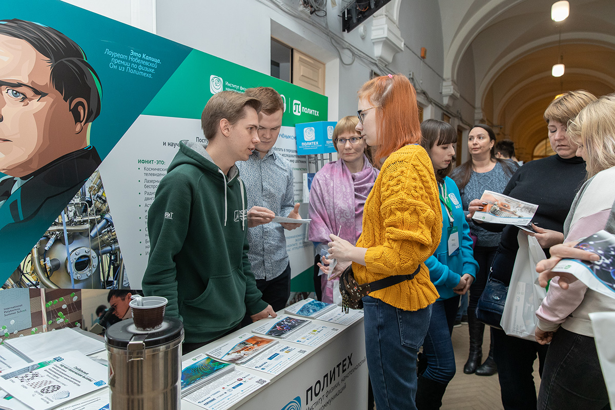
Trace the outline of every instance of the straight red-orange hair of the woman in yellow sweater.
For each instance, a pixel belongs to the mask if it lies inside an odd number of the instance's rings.
[[[378,107],[374,108],[378,132],[375,164],[380,164],[381,159],[403,146],[421,141],[415,87],[403,74],[371,79],[359,90],[359,99],[370,101]]]

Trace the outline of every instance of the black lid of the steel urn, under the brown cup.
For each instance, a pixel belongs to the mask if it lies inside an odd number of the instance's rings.
[[[130,339],[134,336],[147,334],[145,348],[167,344],[183,336],[184,326],[181,320],[165,317],[159,329],[150,332],[141,332],[135,328],[132,319],[122,320],[109,326],[105,332],[105,342],[109,346],[127,349]]]

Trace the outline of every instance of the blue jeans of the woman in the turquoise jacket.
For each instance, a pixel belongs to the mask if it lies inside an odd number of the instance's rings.
[[[459,296],[451,299],[459,301]],[[423,354],[427,359],[427,369],[423,376],[442,384],[450,382],[456,370],[453,342],[446,320],[445,302],[438,300],[432,305],[429,330],[423,342]]]

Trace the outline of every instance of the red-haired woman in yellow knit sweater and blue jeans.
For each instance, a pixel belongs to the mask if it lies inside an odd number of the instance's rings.
[[[377,146],[381,171],[365,202],[357,246],[330,235],[329,253],[352,261],[360,284],[400,280],[363,298],[367,364],[378,410],[416,409],[416,352],[438,298],[424,264],[442,234],[434,167],[418,145],[416,92],[402,74],[365,83],[358,115],[357,131]]]

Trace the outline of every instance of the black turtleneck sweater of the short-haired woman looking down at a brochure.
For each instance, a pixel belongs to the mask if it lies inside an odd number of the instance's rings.
[[[544,229],[563,232],[566,216],[576,192],[585,181],[585,162],[580,157],[563,159],[557,154],[523,165],[510,178],[503,194],[538,205],[532,222]],[[513,225],[485,224],[490,231],[502,231],[498,255],[493,262],[494,278],[508,284],[519,249]],[[549,256],[549,250],[544,250]]]

